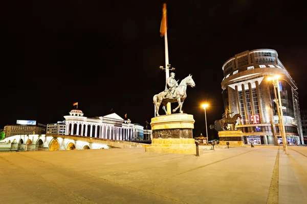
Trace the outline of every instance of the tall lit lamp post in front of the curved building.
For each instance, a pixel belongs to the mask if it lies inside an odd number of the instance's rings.
[[[274,102],[276,103],[277,106],[277,113],[278,113],[278,119],[279,119],[279,132],[282,138],[282,146],[283,150],[286,151],[286,155],[288,155],[288,144],[287,144],[287,137],[286,137],[286,130],[284,128],[284,120],[283,120],[283,113],[282,113],[282,105],[281,105],[281,98],[280,98],[280,89],[279,89],[279,75],[274,75],[273,77],[269,77],[268,81],[273,82],[274,86],[274,94],[275,94],[275,99]],[[277,93],[278,93],[278,98],[276,95],[276,88],[277,88]]]

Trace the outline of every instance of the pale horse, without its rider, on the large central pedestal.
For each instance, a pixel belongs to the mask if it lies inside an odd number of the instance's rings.
[[[160,108],[161,104],[163,106],[162,109],[165,111],[165,114],[167,115],[167,111],[165,109],[167,103],[178,102],[178,107],[176,109],[173,109],[172,112],[174,113],[174,112],[177,111],[178,108],[180,108],[180,113],[181,113],[181,109],[182,109],[184,99],[186,99],[186,97],[187,97],[186,91],[187,91],[188,85],[191,86],[191,87],[195,86],[195,82],[193,81],[191,74],[189,74],[188,77],[184,78],[181,81],[181,83],[179,84],[179,86],[175,89],[174,97],[165,98],[168,91],[162,91],[159,94],[154,95],[153,96],[153,104],[155,104],[157,116],[159,116],[159,108]]]

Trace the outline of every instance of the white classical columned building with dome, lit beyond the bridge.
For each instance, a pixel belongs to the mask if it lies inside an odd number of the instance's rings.
[[[65,135],[79,135],[85,137],[110,140],[131,140],[133,124],[124,120],[116,113],[102,117],[87,118],[81,110],[75,109],[64,116],[66,121]]]

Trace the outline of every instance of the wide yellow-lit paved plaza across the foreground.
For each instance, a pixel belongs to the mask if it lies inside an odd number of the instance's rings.
[[[0,152],[0,203],[307,203],[307,147]]]

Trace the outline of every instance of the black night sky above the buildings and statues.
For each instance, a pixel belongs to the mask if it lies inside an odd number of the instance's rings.
[[[203,102],[211,105],[208,125],[221,119],[222,65],[245,50],[277,50],[307,108],[306,18],[295,1],[6,1],[0,129],[17,119],[63,120],[77,101],[84,116],[113,108],[145,125],[154,116],[152,96],[165,86],[164,2],[169,63],[177,80],[192,74],[196,84],[183,105],[194,115],[194,134],[205,125]]]

